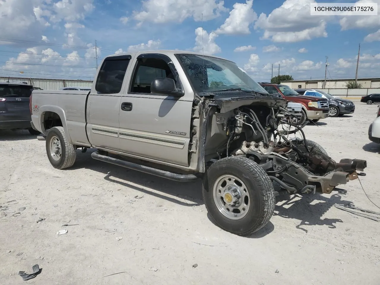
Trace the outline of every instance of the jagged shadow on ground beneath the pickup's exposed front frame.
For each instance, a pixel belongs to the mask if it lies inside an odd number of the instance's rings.
[[[283,218],[293,218],[301,222],[296,228],[307,233],[305,226],[326,225],[329,228],[336,228],[336,223],[343,223],[336,218],[322,218],[322,216],[334,206],[334,204],[350,204],[351,201],[342,201],[342,197],[337,192],[332,192],[330,197],[322,195],[281,195],[277,197],[277,205],[274,215]]]

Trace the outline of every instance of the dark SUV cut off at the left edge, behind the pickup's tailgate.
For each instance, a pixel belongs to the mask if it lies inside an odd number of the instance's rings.
[[[33,86],[19,82],[0,82],[0,130],[28,130],[39,135],[30,124],[29,97]]]

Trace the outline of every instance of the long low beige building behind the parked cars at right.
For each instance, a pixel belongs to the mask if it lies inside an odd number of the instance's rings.
[[[326,80],[325,89],[345,89],[345,85],[349,80],[355,79],[334,79]],[[323,88],[324,79],[318,80],[292,80],[292,81],[283,81],[282,84],[285,84],[293,89],[296,88]],[[361,83],[361,88],[380,88],[380,78],[360,78],[358,83]]]

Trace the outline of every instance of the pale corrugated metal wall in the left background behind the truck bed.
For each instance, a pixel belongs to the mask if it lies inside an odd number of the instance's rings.
[[[0,77],[0,82],[8,81],[8,77]],[[22,81],[33,87],[40,87],[44,90],[58,90],[62,87],[78,86],[91,87],[92,81],[87,80],[66,80],[66,79],[44,79],[44,78],[19,78],[10,77],[9,81]]]

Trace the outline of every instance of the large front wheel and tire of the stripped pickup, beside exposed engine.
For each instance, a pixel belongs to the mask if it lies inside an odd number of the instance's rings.
[[[228,189],[230,186],[232,190]],[[271,180],[264,169],[246,157],[226,157],[213,163],[203,180],[202,192],[206,209],[215,223],[239,236],[263,228],[274,211],[275,194]],[[238,204],[231,206],[228,199],[232,200],[231,204],[234,199],[239,201],[240,213],[237,212]]]

